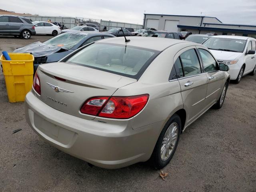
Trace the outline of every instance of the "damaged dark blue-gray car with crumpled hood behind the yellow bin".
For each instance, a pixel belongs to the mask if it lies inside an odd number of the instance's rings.
[[[62,33],[43,43],[35,42],[27,46],[14,50],[15,53],[31,53],[34,55],[34,73],[38,65],[44,63],[57,62],[74,50],[91,42],[104,38],[114,37],[106,33],[85,33],[81,31],[71,31]]]

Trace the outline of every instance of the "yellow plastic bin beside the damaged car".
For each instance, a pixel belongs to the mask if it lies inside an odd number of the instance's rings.
[[[8,53],[11,60],[0,56],[8,99],[10,103],[25,100],[26,94],[31,90],[34,74],[34,56],[28,53]]]

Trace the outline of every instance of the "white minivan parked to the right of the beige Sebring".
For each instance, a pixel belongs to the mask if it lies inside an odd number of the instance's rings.
[[[230,80],[239,83],[242,76],[256,73],[256,39],[244,36],[212,36],[203,43],[218,62],[229,66]]]

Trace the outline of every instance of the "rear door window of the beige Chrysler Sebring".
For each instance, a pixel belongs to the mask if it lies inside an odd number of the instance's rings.
[[[183,65],[184,76],[196,75],[201,73],[200,62],[194,49],[185,51],[180,55]]]

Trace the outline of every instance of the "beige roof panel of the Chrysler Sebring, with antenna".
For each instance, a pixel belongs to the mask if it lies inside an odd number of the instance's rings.
[[[174,44],[188,43],[187,41],[169,39],[169,38],[140,37],[140,36],[127,36],[126,38],[129,39],[130,42],[125,42],[124,37],[107,38],[107,39],[101,40],[100,42],[135,46],[139,48],[152,49],[152,50],[158,50],[158,51],[162,51]]]

